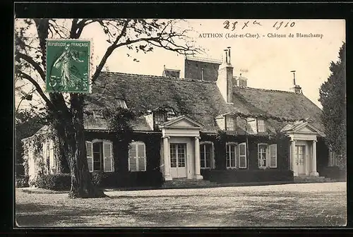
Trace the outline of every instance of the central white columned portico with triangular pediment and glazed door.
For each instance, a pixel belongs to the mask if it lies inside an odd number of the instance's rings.
[[[200,129],[189,117],[167,121],[162,129],[162,173],[165,181],[173,178],[202,179],[200,172]]]

